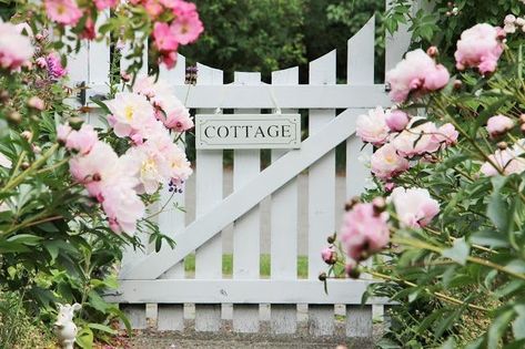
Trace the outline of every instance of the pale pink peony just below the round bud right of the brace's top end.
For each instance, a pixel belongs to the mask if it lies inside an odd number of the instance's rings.
[[[400,156],[392,144],[380,147],[371,157],[372,173],[383,181],[410,168],[406,158]]]

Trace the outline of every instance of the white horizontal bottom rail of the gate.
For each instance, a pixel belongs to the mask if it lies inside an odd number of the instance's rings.
[[[372,280],[330,279],[329,292],[319,280],[213,280],[157,279],[121,280],[119,290],[105,299],[121,304],[310,304],[361,305]],[[370,298],[366,304],[388,304],[387,299]]]

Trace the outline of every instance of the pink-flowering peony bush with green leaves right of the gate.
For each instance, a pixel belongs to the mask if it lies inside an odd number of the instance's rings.
[[[408,52],[387,73],[397,104],[357,120],[374,187],[322,258],[398,304],[381,347],[525,346],[524,35],[475,24],[448,68],[435,47]]]

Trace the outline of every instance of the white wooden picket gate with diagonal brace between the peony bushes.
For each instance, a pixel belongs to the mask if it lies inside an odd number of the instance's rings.
[[[376,105],[390,105],[384,84],[374,84],[374,32],[372,18],[347,42],[347,84],[336,84],[336,52],[310,63],[310,83],[299,84],[299,69],[272,73],[272,83],[261,82],[260,73],[236,72],[224,84],[223,72],[199,64],[198,83],[184,84],[185,60],[162,71],[161,79],[173,84],[178,96],[198,113],[218,107],[239,113],[282,109],[309,112],[309,136],[300,150],[271,151],[272,164],[261,172],[259,150],[236,150],[233,158],[233,193],[223,196],[223,151],[196,151],[195,192],[178,194],[175,201],[196,212],[185,222],[182,212],[168,211],[159,216],[163,234],[175,239],[171,249],[160,253],[128,252],[120,274],[120,290],[109,299],[119,302],[134,328],[147,327],[147,305],[157,305],[159,330],[184,330],[184,305],[194,305],[194,329],[220,331],[221,308],[232,305],[233,330],[258,332],[260,305],[270,305],[273,333],[294,333],[297,305],[307,305],[310,333],[334,332],[334,305],[346,307],[346,336],[372,336],[372,307],[383,299],[361,306],[362,294],[372,280],[330,280],[329,292],[319,281],[326,270],[320,252],[326,236],[340,225],[341,207],[335,207],[335,151],[346,143],[346,198],[359,195],[370,171],[357,158],[362,142],[354,136],[355,117]],[[406,33],[388,38],[386,68],[391,68],[407,45]],[[90,94],[108,81],[109,48],[89,43],[70,61],[71,79],[84,81]],[[103,92],[103,91],[102,91]],[[101,92],[101,93],[102,93]],[[344,110],[336,115],[336,110]],[[91,116],[91,115],[89,115]],[[94,119],[91,120],[94,122]],[[370,152],[370,147],[365,152]],[[297,278],[299,203],[297,177],[307,171],[307,278]],[[301,189],[302,191],[302,189]],[[164,202],[171,193],[162,193]],[[260,203],[271,197],[270,278],[260,276]],[[222,234],[233,223],[233,275],[222,273]],[[195,273],[184,273],[183,260],[195,255]],[[340,306],[341,307],[341,306]],[[151,307],[150,307],[151,308]],[[153,308],[154,309],[154,308]]]

